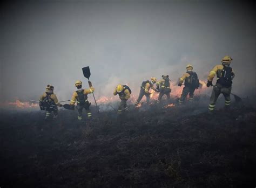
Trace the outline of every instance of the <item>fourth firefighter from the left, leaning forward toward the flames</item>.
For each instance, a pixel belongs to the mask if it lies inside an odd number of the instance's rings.
[[[135,106],[139,105],[139,101],[142,100],[143,96],[146,96],[146,103],[150,102],[150,89],[153,89],[154,91],[158,92],[156,88],[154,88],[154,83],[157,82],[157,79],[152,77],[150,80],[146,80],[142,82],[142,86],[140,86],[140,92],[139,97],[137,101],[135,102]]]

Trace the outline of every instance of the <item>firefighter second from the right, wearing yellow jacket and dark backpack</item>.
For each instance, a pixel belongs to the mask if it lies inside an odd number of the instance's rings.
[[[197,73],[193,72],[193,66],[188,64],[186,66],[187,72],[181,76],[179,79],[178,86],[182,86],[184,81],[185,87],[182,90],[181,96],[179,98],[180,105],[184,102],[186,96],[189,94],[189,101],[192,102],[194,98],[194,90],[199,87],[199,79]]]

